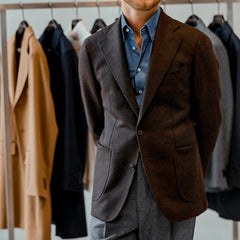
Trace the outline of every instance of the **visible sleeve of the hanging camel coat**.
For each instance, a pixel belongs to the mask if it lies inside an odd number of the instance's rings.
[[[50,74],[43,52],[30,56],[28,97],[26,190],[29,195],[47,198],[58,129],[50,91]]]

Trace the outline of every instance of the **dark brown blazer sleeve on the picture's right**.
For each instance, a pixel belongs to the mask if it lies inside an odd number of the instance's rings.
[[[220,124],[219,64],[210,39],[198,39],[193,63],[194,118],[203,173],[206,173],[213,152]]]

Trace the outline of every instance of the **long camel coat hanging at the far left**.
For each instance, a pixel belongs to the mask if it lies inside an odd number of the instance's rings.
[[[25,240],[50,240],[50,179],[58,129],[47,59],[30,26],[18,69],[16,53],[15,34],[8,42],[14,226],[25,230]],[[3,106],[0,123],[0,228],[7,228]]]

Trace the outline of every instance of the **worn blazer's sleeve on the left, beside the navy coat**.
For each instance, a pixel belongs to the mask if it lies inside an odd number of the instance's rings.
[[[104,128],[104,111],[102,106],[101,86],[96,79],[91,58],[87,48],[87,39],[80,50],[79,77],[87,123],[97,144]]]

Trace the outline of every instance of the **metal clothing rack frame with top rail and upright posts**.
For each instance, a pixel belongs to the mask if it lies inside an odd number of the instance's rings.
[[[227,19],[233,26],[233,3],[240,0],[162,0],[162,4],[203,4],[203,3],[227,3]],[[49,3],[20,3],[0,4],[0,26],[1,26],[1,97],[4,115],[4,161],[6,174],[6,198],[7,198],[7,222],[8,239],[14,240],[14,215],[13,215],[13,191],[12,191],[12,163],[10,154],[10,127],[9,127],[9,95],[8,95],[8,60],[7,60],[7,22],[6,11],[13,9],[46,9],[46,8],[83,8],[83,7],[116,7],[120,6],[120,0],[96,0],[96,1],[72,1],[72,2],[49,2]],[[233,222],[233,240],[238,240],[238,222]]]

